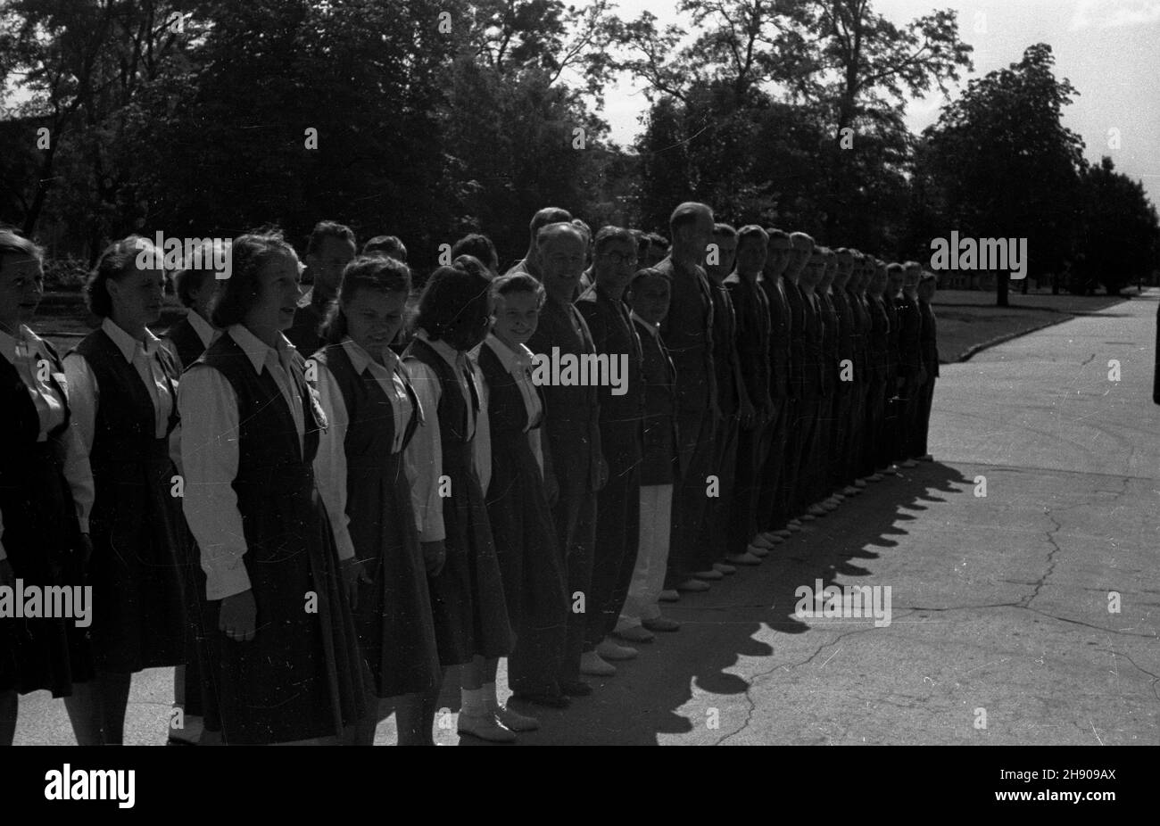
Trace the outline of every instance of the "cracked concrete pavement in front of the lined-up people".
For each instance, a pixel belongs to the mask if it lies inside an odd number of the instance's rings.
[[[521,741],[1160,742],[1158,298],[944,365],[934,464],[668,607],[680,633]],[[795,616],[817,579],[889,586],[891,623]],[[168,669],[135,679],[126,741],[164,741],[171,696]],[[16,741],[72,742],[63,704],[23,698]]]

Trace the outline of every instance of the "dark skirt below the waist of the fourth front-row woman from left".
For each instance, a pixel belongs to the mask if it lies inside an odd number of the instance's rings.
[[[379,697],[428,691],[440,658],[401,454],[348,473],[347,513],[355,556],[372,581],[360,582],[355,626]]]

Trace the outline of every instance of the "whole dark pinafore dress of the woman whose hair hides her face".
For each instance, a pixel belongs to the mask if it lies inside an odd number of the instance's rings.
[[[471,419],[454,368],[422,339],[407,347],[407,356],[426,364],[440,381],[438,416],[442,476],[451,485],[443,498],[447,563],[429,579],[435,638],[443,667],[470,662],[474,655],[503,657],[512,650],[512,628],[495,544],[479,477],[472,465]],[[470,382],[476,415],[479,396]]]

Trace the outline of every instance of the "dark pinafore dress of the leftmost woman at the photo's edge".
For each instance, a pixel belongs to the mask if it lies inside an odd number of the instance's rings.
[[[0,513],[3,546],[13,573],[28,586],[82,584],[80,528],[64,476],[60,439],[68,427],[64,368],[44,342],[49,383],[65,403],[65,419],[37,442],[41,421],[16,367],[0,356]],[[92,616],[92,602],[88,603]],[[0,618],[0,691],[71,694],[73,682],[93,676],[85,639],[74,618]]]

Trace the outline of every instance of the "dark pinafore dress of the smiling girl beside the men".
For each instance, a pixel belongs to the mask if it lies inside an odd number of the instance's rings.
[[[516,694],[557,695],[567,638],[567,571],[529,442],[530,432],[541,427],[543,416],[529,421],[520,387],[493,346],[503,347],[488,339],[479,348],[479,369],[487,381],[492,437],[487,515],[515,632],[508,686]]]

